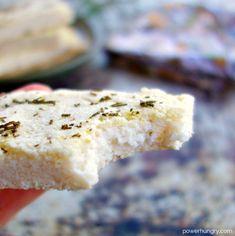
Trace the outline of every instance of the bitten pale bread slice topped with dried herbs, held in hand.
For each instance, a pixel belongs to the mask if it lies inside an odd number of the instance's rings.
[[[0,188],[90,188],[113,160],[179,149],[192,135],[193,102],[158,89],[3,94]]]

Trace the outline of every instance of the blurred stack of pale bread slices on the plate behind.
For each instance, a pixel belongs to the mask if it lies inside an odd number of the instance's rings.
[[[55,67],[87,50],[63,0],[13,1],[0,8],[0,79]]]

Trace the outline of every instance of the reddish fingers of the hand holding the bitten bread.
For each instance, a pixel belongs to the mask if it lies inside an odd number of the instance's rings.
[[[24,86],[17,90],[50,90],[49,87],[40,84]],[[42,190],[0,190],[0,227],[4,226],[20,209],[30,204],[43,193]]]

